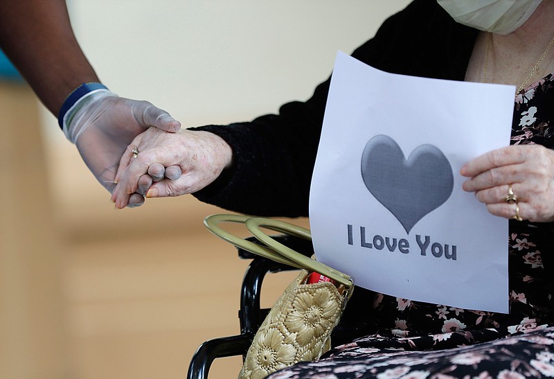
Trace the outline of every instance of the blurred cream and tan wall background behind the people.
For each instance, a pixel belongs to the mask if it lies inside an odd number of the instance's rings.
[[[150,100],[189,127],[308,98],[337,50],[350,53],[408,2],[73,0],[69,8],[112,91]],[[33,94],[12,85],[0,94],[3,118],[40,125],[43,137],[30,144],[14,134],[2,145],[16,148],[4,147],[0,161],[2,177],[15,177],[0,204],[0,378],[184,377],[196,346],[239,331],[247,263],[202,227],[221,210],[186,196],[114,211]],[[27,155],[33,175],[10,165]],[[269,280],[267,306],[289,280]],[[229,358],[211,378],[239,369]]]

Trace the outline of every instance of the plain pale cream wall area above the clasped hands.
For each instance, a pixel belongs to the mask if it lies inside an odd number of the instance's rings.
[[[244,121],[308,98],[330,75],[337,50],[350,53],[407,3],[70,0],[69,8],[110,89],[196,126]]]

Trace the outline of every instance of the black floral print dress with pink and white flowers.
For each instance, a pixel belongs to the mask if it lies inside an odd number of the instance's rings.
[[[554,149],[554,74],[517,94],[511,144]],[[554,377],[554,224],[510,220],[508,240],[508,315],[357,288],[336,347],[268,378]]]

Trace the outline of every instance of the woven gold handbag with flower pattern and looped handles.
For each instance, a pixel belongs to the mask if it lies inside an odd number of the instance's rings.
[[[234,236],[219,222],[244,223],[263,245]],[[276,301],[258,329],[240,371],[241,379],[261,379],[292,364],[318,360],[331,346],[330,335],[339,324],[354,288],[353,279],[337,270],[295,252],[264,233],[260,227],[311,240],[308,229],[280,220],[243,215],[211,215],[204,220],[208,230],[237,247],[279,263],[298,267],[301,273]],[[306,283],[317,272],[332,279]]]

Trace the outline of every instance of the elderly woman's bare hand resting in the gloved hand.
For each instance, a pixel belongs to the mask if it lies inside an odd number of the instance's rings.
[[[111,200],[122,209],[129,193],[137,191],[146,197],[194,193],[217,179],[231,165],[232,155],[231,147],[213,133],[168,133],[151,127],[136,136],[121,157]]]

